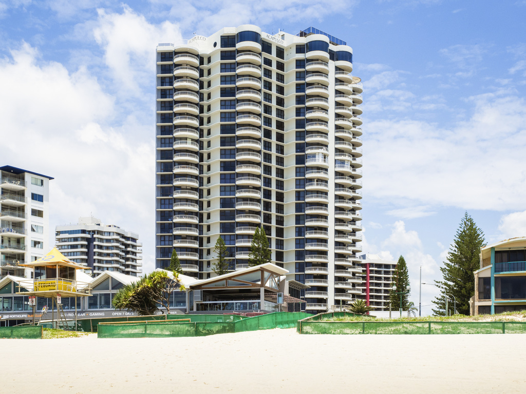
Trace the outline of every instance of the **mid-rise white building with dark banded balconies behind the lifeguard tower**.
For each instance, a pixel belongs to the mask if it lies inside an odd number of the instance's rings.
[[[142,271],[143,244],[139,235],[93,216],[79,217],[76,224],[56,226],[55,246],[64,256],[86,266],[98,276],[105,271],[138,276]]]

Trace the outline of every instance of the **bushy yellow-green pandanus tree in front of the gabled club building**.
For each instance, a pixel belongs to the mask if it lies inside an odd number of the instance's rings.
[[[167,271],[154,271],[120,288],[112,304],[116,309],[126,309],[138,315],[154,315],[159,307],[170,313],[170,294],[177,289],[185,289],[177,272],[169,276]]]

